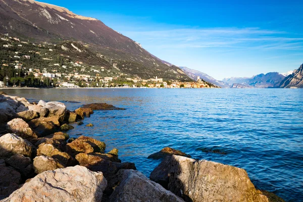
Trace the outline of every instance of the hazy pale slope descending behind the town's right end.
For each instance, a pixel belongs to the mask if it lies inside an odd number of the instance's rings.
[[[201,79],[207,81],[207,82],[210,82],[210,83],[213,83],[217,86],[220,86],[222,88],[229,88],[230,85],[228,85],[227,83],[224,83],[223,81],[218,81],[216,79],[214,79],[213,77],[207,75],[206,73],[203,73],[203,72],[200,72],[200,71],[197,71],[197,70],[193,70],[193,69],[189,69],[187,67],[180,67],[183,72],[191,79],[193,80],[197,80],[197,76],[199,76]]]

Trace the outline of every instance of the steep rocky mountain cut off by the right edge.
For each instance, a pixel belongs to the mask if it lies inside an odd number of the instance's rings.
[[[280,88],[303,88],[303,64],[287,76],[279,85]]]

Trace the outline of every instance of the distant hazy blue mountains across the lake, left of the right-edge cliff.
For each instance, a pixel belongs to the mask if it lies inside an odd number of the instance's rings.
[[[224,78],[223,81],[229,84],[242,84],[244,86],[250,86],[255,88],[269,88],[269,87],[278,87],[281,81],[285,76],[279,74],[278,72],[269,72],[267,74],[258,74],[251,78]]]

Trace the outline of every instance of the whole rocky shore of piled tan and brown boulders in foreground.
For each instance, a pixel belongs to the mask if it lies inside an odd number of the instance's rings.
[[[163,159],[148,179],[121,162],[117,148],[105,153],[105,142],[65,133],[93,110],[124,109],[91,104],[71,112],[0,92],[1,201],[283,201],[256,189],[243,169],[169,147],[148,157]]]

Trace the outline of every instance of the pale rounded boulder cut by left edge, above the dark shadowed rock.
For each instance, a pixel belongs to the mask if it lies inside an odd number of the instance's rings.
[[[15,134],[5,134],[0,137],[0,158],[10,158],[15,154],[31,157],[33,145]]]

